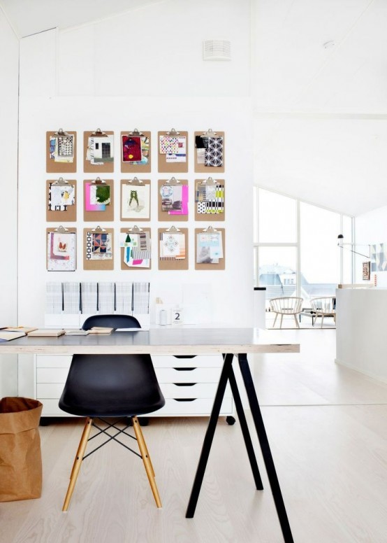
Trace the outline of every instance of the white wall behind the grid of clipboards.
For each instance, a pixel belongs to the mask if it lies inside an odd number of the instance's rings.
[[[215,17],[215,15],[217,15]],[[230,21],[233,20],[233,24]],[[188,289],[210,291],[214,302],[205,318],[212,322],[252,324],[252,144],[249,93],[249,1],[220,0],[195,4],[170,1],[152,10],[116,17],[98,24],[57,33],[47,31],[21,42],[20,52],[20,172],[19,172],[19,308],[24,323],[43,325],[47,281],[150,281],[151,299],[182,300]],[[232,41],[231,62],[203,62],[205,38]],[[234,47],[235,45],[235,47]],[[38,77],[37,77],[38,74]],[[152,132],[152,227],[156,240],[156,183],[165,174],[156,171],[158,130],[189,131],[189,270],[159,272],[157,247],[152,247],[152,269],[122,271],[115,251],[113,272],[82,269],[82,190],[78,191],[78,269],[72,273],[45,269],[45,132],[64,129],[78,132],[78,170],[68,178],[82,189],[82,132],[101,127],[121,130],[138,127]],[[194,270],[194,131],[226,132],[226,270]],[[31,138],[31,134],[34,137]],[[117,149],[117,147],[116,147]],[[214,172],[216,178],[216,172]],[[115,161],[115,221],[119,222],[119,181],[127,178]],[[117,237],[115,246],[117,248]]]

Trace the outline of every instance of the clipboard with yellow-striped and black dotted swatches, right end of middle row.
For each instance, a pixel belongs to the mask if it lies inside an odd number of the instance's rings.
[[[200,188],[206,186],[215,187],[214,199],[205,199],[200,195]],[[225,218],[224,195],[225,195],[224,179],[195,179],[195,220],[205,221],[223,221]]]

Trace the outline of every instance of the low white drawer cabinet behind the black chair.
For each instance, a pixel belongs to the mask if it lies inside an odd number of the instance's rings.
[[[164,407],[149,416],[208,416],[217,390],[222,355],[152,355]],[[42,416],[69,416],[58,407],[71,364],[71,356],[35,355],[36,398],[43,404]],[[221,404],[222,416],[233,423],[234,402],[229,385]]]

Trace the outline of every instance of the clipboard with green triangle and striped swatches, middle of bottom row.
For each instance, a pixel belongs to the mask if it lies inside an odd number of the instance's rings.
[[[151,267],[151,241],[149,229],[137,226],[129,230],[122,229],[119,234],[119,246],[122,248],[122,262],[127,268]]]

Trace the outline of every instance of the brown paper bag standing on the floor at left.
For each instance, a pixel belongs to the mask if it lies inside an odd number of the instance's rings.
[[[23,397],[0,400],[0,502],[40,498],[43,405]]]

